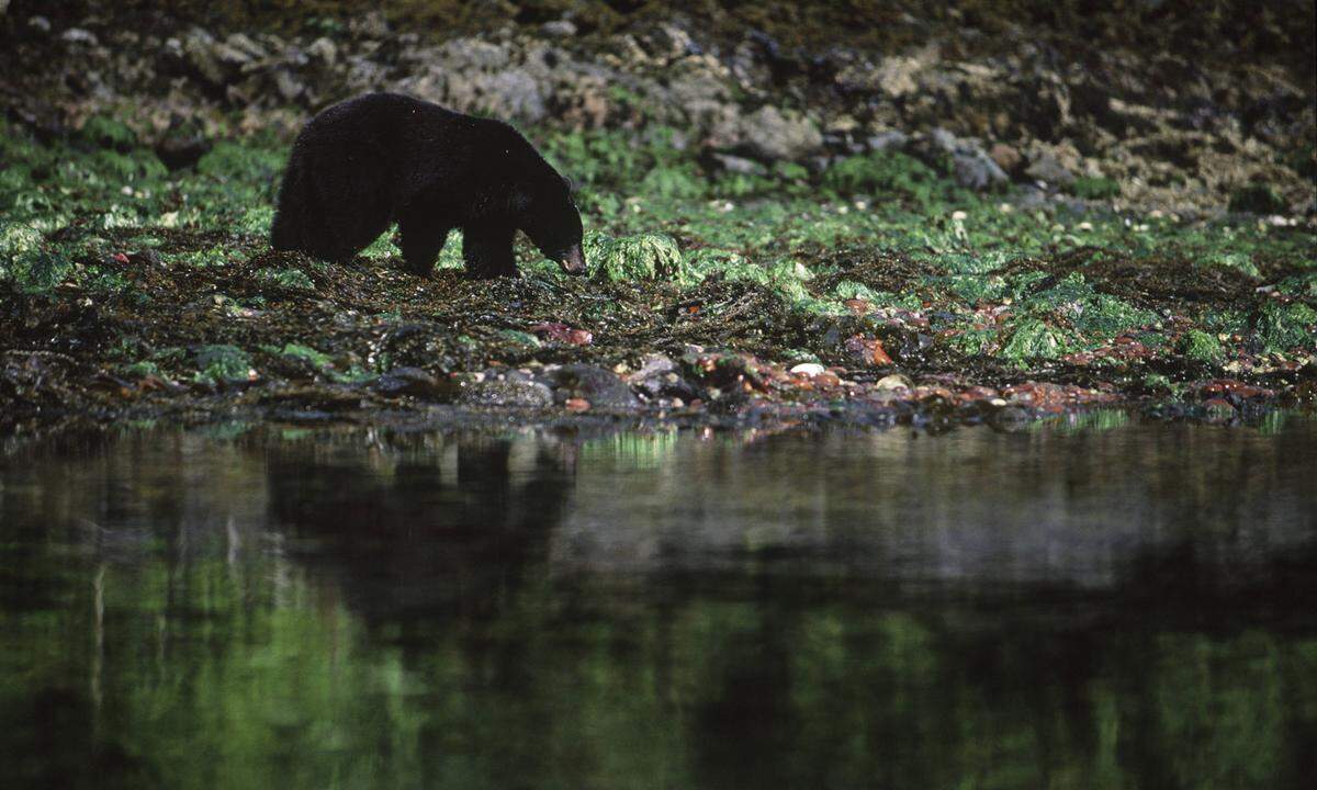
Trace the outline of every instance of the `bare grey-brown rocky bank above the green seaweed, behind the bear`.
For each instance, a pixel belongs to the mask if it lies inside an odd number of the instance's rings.
[[[714,43],[680,21],[581,37],[557,20],[445,41],[378,12],[313,38],[8,25],[11,115],[57,133],[112,112],[184,161],[234,113],[240,133],[290,134],[335,100],[387,90],[532,126],[678,128],[676,144],[712,169],[820,171],[898,149],[950,158],[979,191],[1014,182],[1185,217],[1317,213],[1314,88],[1281,66],[1098,49],[1067,62],[1027,32],[1006,54],[968,58],[946,41],[807,53],[749,30]]]

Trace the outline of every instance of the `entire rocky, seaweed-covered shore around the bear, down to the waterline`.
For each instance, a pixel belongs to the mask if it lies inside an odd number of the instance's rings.
[[[1314,86],[1280,63],[1067,59],[1025,29],[807,50],[680,17],[0,22],[4,433],[1255,424],[1317,399]],[[605,263],[569,282],[523,251],[486,284],[408,278],[387,240],[271,253],[291,134],[367,90],[548,142]]]

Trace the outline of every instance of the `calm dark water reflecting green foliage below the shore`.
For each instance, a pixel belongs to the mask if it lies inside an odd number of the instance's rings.
[[[1299,417],[11,449],[0,783],[1308,786],[1314,514]]]

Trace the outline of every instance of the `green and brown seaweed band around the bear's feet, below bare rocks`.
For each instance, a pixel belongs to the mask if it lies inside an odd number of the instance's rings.
[[[105,118],[47,144],[9,122],[0,132],[0,282],[14,298],[130,309],[150,337],[112,337],[87,362],[140,373],[132,366],[158,349],[184,348],[187,359],[150,359],[173,381],[302,375],[286,348],[345,361],[336,370],[308,358],[328,381],[390,365],[452,374],[525,363],[544,359],[527,334],[536,321],[594,330],[570,353],[607,367],[658,341],[669,353],[697,344],[848,366],[844,341],[863,336],[889,353],[921,349],[897,359],[907,373],[992,384],[1063,365],[1133,392],[1150,391],[1150,359],[1179,382],[1317,354],[1310,224],[1023,208],[1017,195],[976,195],[900,153],[734,174],[672,129],[532,129],[576,179],[593,276],[564,275],[520,238],[522,283],[456,286],[454,232],[436,267],[453,284],[424,288],[402,274],[390,234],[350,266],[269,250],[286,155],[274,136],[216,141],[195,167],[169,171]],[[1080,179],[1075,191],[1101,200],[1115,188]],[[242,321],[257,316],[253,334]],[[420,345],[371,345],[415,320],[444,330]]]

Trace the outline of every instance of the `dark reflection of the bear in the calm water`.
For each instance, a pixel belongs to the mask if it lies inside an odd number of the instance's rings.
[[[400,458],[371,469],[360,452],[274,453],[271,527],[304,564],[338,577],[367,620],[497,612],[525,567],[544,562],[576,448],[464,438]]]

